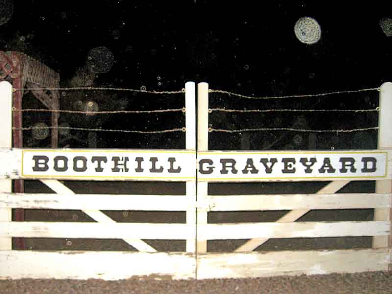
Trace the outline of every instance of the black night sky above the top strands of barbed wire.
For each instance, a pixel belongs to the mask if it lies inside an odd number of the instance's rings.
[[[255,96],[374,88],[392,81],[392,37],[379,25],[392,18],[387,2],[113,0],[74,9],[15,0],[0,26],[0,50],[42,61],[60,73],[62,86],[91,49],[105,46],[115,63],[95,86],[172,91],[206,81]],[[314,45],[295,37],[303,16],[321,26]]]

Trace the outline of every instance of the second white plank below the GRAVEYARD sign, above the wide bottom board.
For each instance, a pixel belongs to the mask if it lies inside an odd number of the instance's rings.
[[[385,236],[389,221],[309,221],[199,225],[198,240]]]

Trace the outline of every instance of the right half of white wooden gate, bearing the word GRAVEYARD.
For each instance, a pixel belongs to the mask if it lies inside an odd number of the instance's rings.
[[[209,90],[207,83],[198,85],[198,146],[197,159],[204,163],[204,174],[199,165],[197,180],[197,278],[251,278],[274,275],[328,274],[334,272],[361,272],[391,270],[391,148],[392,148],[392,83],[380,89],[379,149],[351,152],[241,152],[209,151]],[[328,158],[353,158],[358,154],[384,153],[386,168],[383,174],[373,177],[370,173],[298,174],[294,172],[293,158],[317,158],[320,153]],[[290,154],[289,156],[287,154]],[[340,155],[339,155],[340,154]],[[370,155],[372,154],[372,155]],[[245,159],[244,159],[245,157]],[[256,172],[260,158],[271,167],[271,158],[289,157],[288,173]],[[247,161],[246,159],[251,159]],[[222,162],[222,159],[224,160]],[[253,160],[254,159],[254,160]],[[338,159],[339,161],[339,159]],[[379,161],[380,162],[380,161]],[[218,165],[221,163],[221,166]],[[226,166],[224,164],[226,163]],[[242,163],[242,165],[241,165]],[[306,162],[305,162],[306,163]],[[341,162],[342,163],[342,162]],[[246,174],[241,174],[244,168]],[[307,164],[309,164],[307,162]],[[262,168],[267,168],[261,165]],[[214,168],[214,171],[209,170]],[[283,165],[283,169],[285,166]],[[302,168],[304,166],[302,165]],[[221,174],[217,170],[221,169]],[[244,169],[244,170],[245,170]],[[303,169],[302,169],[303,170]],[[222,172],[223,171],[223,172]],[[255,174],[253,174],[253,172]],[[347,172],[342,170],[342,172]],[[359,169],[357,169],[359,172]],[[207,174],[206,174],[207,173]],[[284,195],[209,195],[208,182],[266,182],[266,181],[332,181],[316,194]],[[352,180],[376,180],[376,193],[336,193]],[[312,209],[363,209],[374,208],[373,221],[298,222]],[[275,222],[263,223],[208,223],[208,212],[216,211],[272,211],[289,210]],[[253,251],[270,238],[310,238],[374,236],[372,249],[356,250],[306,250],[306,251]],[[207,241],[216,239],[245,239],[234,252],[207,252]]]

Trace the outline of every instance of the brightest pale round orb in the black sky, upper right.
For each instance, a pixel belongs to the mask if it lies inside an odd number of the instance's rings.
[[[295,36],[305,44],[315,44],[321,39],[321,26],[311,17],[301,17],[294,26]]]

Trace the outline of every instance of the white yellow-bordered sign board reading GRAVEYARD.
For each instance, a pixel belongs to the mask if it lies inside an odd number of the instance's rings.
[[[385,151],[200,152],[198,181],[382,179]]]

